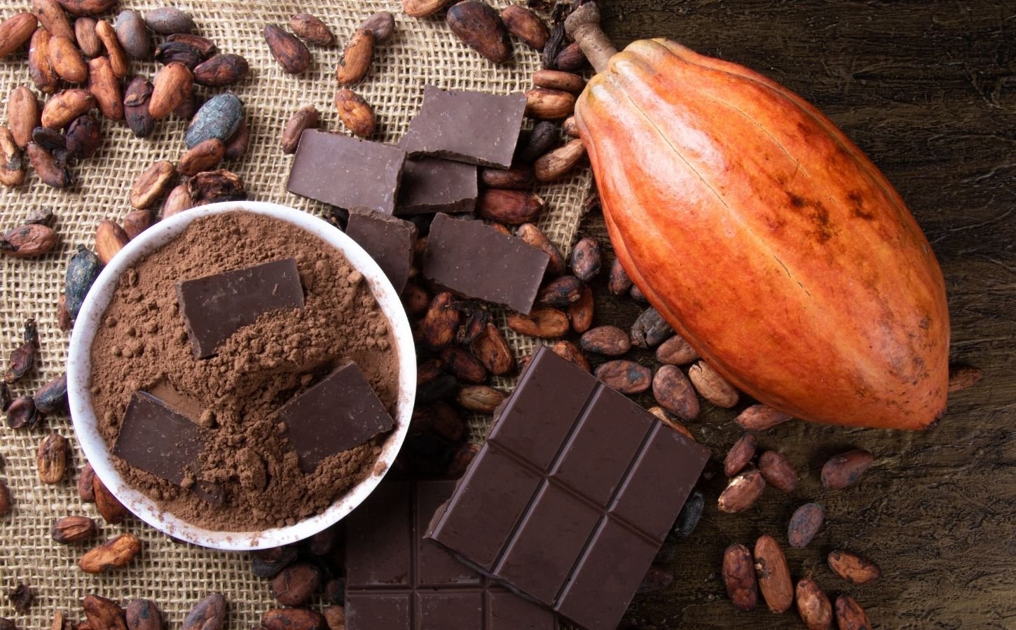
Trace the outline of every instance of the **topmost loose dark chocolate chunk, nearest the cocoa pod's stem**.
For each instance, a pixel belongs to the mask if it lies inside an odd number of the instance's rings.
[[[409,157],[436,155],[484,166],[511,166],[525,94],[424,87],[424,104],[399,142]]]

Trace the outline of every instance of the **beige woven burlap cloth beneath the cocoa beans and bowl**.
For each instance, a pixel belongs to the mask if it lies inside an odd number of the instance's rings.
[[[160,2],[130,0],[125,8],[146,10]],[[315,214],[326,208],[290,195],[284,190],[291,157],[279,149],[279,136],[287,120],[301,106],[315,104],[322,112],[322,127],[339,131],[341,124],[332,106],[336,85],[334,68],[341,48],[312,47],[313,66],[303,75],[284,74],[271,59],[261,38],[265,23],[285,24],[298,11],[309,11],[332,26],[345,42],[364,17],[387,9],[397,15],[395,37],[380,46],[369,78],[357,91],[373,104],[378,115],[380,138],[396,141],[422,100],[423,86],[433,83],[448,88],[489,90],[499,93],[524,90],[538,67],[538,56],[516,46],[514,63],[495,66],[465,48],[446,27],[443,15],[417,20],[399,14],[397,0],[307,0],[267,2],[259,0],[208,0],[175,2],[193,13],[199,32],[214,40],[223,52],[246,57],[251,66],[247,80],[234,91],[243,99],[251,130],[251,148],[242,163],[227,164],[241,174],[251,199],[288,204]],[[496,2],[495,4],[504,4]],[[0,14],[28,10],[27,0],[0,2]],[[154,63],[134,62],[132,72],[151,76]],[[24,54],[0,62],[0,85],[6,93],[20,84],[30,85]],[[209,90],[205,90],[207,95]],[[20,188],[0,193],[0,226],[16,224],[30,210],[51,207],[57,216],[56,228],[62,242],[42,260],[16,261],[0,257],[0,355],[6,361],[17,345],[24,320],[35,317],[42,341],[38,372],[18,382],[16,393],[30,393],[64,370],[67,336],[55,320],[64,270],[71,252],[79,243],[91,246],[93,231],[105,218],[119,219],[130,208],[127,193],[134,179],[157,159],[176,160],[184,149],[185,124],[176,119],[163,121],[146,140],[134,138],[126,127],[106,124],[105,140],[99,153],[79,162],[74,169],[80,184],[70,191],[44,186],[29,174]],[[583,171],[573,179],[547,186],[538,192],[549,202],[550,211],[542,226],[558,244],[567,249],[578,228],[581,202],[589,188]],[[501,317],[503,323],[503,317]],[[519,354],[531,350],[531,340],[509,335]],[[499,382],[510,387],[510,382]],[[482,422],[474,423],[473,435],[483,434]],[[72,471],[57,486],[47,486],[36,473],[36,450],[50,431],[59,432],[75,445]],[[148,598],[163,609],[171,627],[179,627],[190,608],[209,592],[225,593],[229,601],[229,627],[257,625],[261,612],[274,608],[268,582],[250,573],[244,553],[216,553],[179,544],[155,530],[129,520],[123,526],[102,521],[92,504],[77,497],[77,472],[84,464],[73,439],[67,417],[51,417],[31,431],[0,429],[0,456],[4,479],[13,496],[12,513],[0,517],[0,617],[16,621],[19,628],[48,628],[55,611],[83,619],[80,602],[89,592],[125,603],[132,598]],[[50,528],[55,518],[66,514],[88,514],[101,522],[102,537],[129,531],[141,538],[141,557],[130,567],[106,576],[82,573],[76,565],[83,552],[80,546],[53,542]],[[6,591],[18,582],[30,585],[36,594],[27,615],[16,614]]]

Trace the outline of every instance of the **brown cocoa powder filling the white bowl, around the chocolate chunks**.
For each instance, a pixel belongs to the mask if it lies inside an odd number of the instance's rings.
[[[305,307],[265,313],[218,353],[194,357],[177,303],[183,280],[295,258]],[[114,458],[128,484],[162,508],[212,530],[293,524],[322,511],[371,474],[384,435],[305,475],[276,411],[331,369],[357,362],[393,416],[398,360],[390,326],[363,276],[339,252],[290,223],[249,212],[195,220],[125,273],[91,347],[91,396],[111,447],[135,391],[150,392],[211,429],[194,478],[218,482],[216,507]]]

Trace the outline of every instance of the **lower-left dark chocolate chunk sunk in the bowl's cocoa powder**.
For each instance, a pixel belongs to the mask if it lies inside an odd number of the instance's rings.
[[[135,392],[127,405],[113,454],[134,468],[178,486],[200,473],[198,458],[208,431],[171,409],[147,392]],[[215,505],[223,504],[223,487],[196,481],[190,490]]]

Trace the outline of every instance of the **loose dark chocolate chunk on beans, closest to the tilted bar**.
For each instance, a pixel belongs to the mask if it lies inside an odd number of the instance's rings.
[[[431,223],[423,272],[452,291],[527,313],[549,261],[521,238],[439,214]]]

